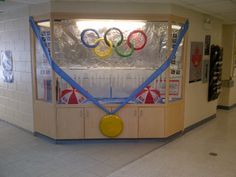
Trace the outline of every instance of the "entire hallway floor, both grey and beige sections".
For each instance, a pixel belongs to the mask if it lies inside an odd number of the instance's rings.
[[[56,145],[0,121],[0,177],[236,177],[236,108],[164,144]]]

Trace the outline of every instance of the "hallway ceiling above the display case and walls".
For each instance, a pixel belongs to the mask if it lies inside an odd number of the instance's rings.
[[[39,4],[50,0],[6,0],[0,2],[0,11],[20,7],[28,4]],[[95,0],[54,0],[54,1],[95,1]],[[98,1],[98,0],[97,0]],[[171,3],[184,6],[225,21],[236,24],[236,0],[99,0],[104,2],[144,2]]]

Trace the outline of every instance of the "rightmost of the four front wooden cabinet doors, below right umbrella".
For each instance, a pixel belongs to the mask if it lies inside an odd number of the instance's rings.
[[[164,137],[164,108],[139,108],[139,138]]]

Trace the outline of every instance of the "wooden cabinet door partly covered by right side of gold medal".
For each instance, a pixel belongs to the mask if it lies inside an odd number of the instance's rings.
[[[124,123],[124,129],[117,138],[138,138],[138,108],[122,108],[117,115]]]

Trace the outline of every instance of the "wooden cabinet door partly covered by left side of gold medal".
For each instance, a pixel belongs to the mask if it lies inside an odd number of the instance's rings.
[[[100,120],[105,115],[106,113],[97,107],[85,108],[85,138],[107,138],[101,133],[99,129]]]

